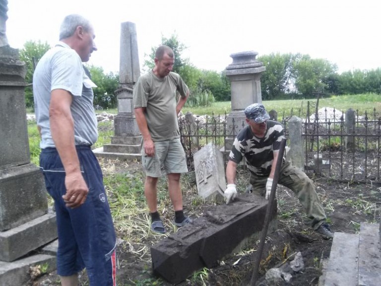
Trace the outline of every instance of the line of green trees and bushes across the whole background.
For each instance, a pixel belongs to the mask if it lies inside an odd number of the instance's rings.
[[[162,36],[160,45],[171,47],[175,53],[173,71],[179,73],[190,88],[187,106],[208,106],[214,101],[230,101],[230,80],[225,71],[202,70],[194,67],[190,59],[183,57],[187,47],[179,41],[176,34]],[[154,67],[155,50],[145,55],[143,71]],[[50,49],[47,43],[28,41],[20,50],[20,60],[26,64],[25,103],[33,108],[32,80],[37,62]],[[272,53],[257,58],[266,67],[261,74],[261,93],[263,100],[312,98],[315,93],[361,94],[381,93],[381,69],[371,71],[345,71],[339,74],[336,64],[323,59],[312,59],[309,55]],[[104,109],[116,108],[115,91],[119,86],[119,73],[105,73],[103,68],[87,66],[94,88],[94,105]]]

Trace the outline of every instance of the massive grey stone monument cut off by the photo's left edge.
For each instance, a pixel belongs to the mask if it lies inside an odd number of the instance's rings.
[[[55,267],[53,256],[27,254],[57,238],[57,226],[55,214],[48,212],[42,174],[30,162],[26,69],[6,39],[6,0],[0,0],[0,10],[0,284],[19,285],[26,272],[9,276],[17,272],[14,265],[49,262]]]

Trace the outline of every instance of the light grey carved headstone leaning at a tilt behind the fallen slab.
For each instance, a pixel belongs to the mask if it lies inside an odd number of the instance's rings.
[[[194,170],[198,195],[203,199],[222,199],[226,189],[224,160],[214,144],[194,153]]]

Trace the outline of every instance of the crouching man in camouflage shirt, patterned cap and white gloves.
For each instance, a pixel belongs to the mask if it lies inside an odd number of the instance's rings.
[[[237,196],[235,185],[237,165],[245,157],[250,173],[253,192],[268,200],[278,158],[280,142],[284,138],[283,127],[270,116],[263,104],[254,103],[245,109],[246,126],[234,140],[226,167],[227,204]],[[324,208],[315,191],[312,180],[301,170],[283,160],[279,184],[291,189],[312,219],[312,227],[323,237],[332,238],[333,233],[326,223]]]

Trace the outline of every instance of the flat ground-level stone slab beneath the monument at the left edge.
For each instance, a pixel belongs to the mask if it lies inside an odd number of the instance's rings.
[[[0,261],[1,286],[25,286],[30,279],[29,268],[36,265],[47,266],[46,271],[56,270],[56,256],[37,254],[13,262]]]

